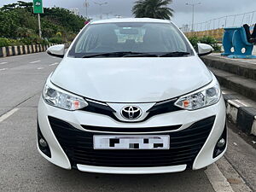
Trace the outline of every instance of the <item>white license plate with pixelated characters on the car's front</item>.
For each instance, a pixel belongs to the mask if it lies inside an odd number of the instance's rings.
[[[170,136],[94,136],[94,149],[169,149]]]

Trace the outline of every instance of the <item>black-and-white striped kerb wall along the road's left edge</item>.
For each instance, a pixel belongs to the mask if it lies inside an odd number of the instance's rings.
[[[0,48],[0,57],[26,55],[32,53],[39,53],[46,51],[50,46],[55,44],[31,44],[31,45],[19,45],[19,46],[7,46]],[[65,43],[65,48],[68,48],[70,43]]]

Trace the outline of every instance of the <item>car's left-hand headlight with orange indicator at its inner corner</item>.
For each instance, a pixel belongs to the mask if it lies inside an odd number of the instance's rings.
[[[61,90],[54,84],[51,84],[49,80],[44,85],[43,98],[47,104],[68,111],[74,111],[88,106],[88,103],[84,101],[83,97]]]

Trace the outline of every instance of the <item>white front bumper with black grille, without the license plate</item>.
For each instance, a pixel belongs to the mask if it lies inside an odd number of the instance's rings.
[[[206,119],[207,121],[204,121]],[[198,122],[201,124],[198,125]],[[196,124],[201,127],[200,130],[196,131],[194,128],[191,131],[191,127]],[[93,135],[113,133],[85,131],[82,125],[137,129],[155,127],[155,130],[163,126],[182,126],[175,131],[158,132],[170,135],[173,144],[170,150],[164,153],[161,150],[133,150],[131,153],[131,150],[94,150],[91,141]],[[224,149],[216,158],[212,156],[225,126],[223,98],[208,108],[164,113],[139,123],[122,123],[106,115],[85,111],[65,111],[45,104],[41,98],[38,105],[38,126],[49,144],[51,157],[45,155],[38,147],[39,153],[57,166],[65,169],[75,167],[84,172],[143,174],[182,172],[187,168],[196,170],[212,164],[225,151]],[[156,133],[157,131],[154,131],[154,135]],[[141,134],[145,135],[144,132]]]

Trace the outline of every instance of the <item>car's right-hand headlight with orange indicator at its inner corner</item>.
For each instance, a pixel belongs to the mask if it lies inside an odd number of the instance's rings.
[[[196,90],[186,96],[181,96],[175,102],[175,105],[179,108],[187,110],[196,110],[199,108],[205,108],[218,102],[221,96],[218,81],[212,80],[212,83],[207,84],[201,90]]]

